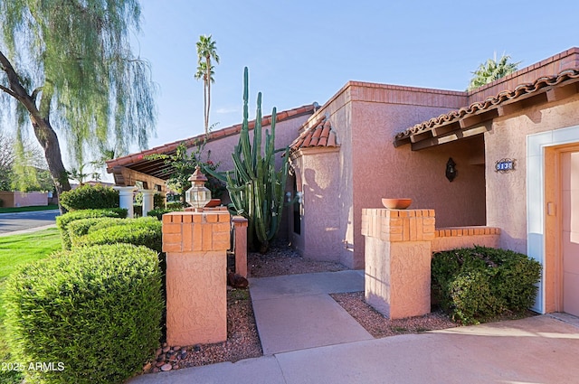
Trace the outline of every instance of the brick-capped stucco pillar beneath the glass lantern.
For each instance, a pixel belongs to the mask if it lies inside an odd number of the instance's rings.
[[[169,345],[227,340],[228,211],[163,215]]]

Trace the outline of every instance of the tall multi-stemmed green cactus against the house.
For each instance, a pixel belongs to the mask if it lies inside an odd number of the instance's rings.
[[[286,151],[275,149],[276,108],[271,112],[271,134],[265,131],[265,148],[261,148],[261,92],[257,96],[257,113],[253,128],[253,145],[249,133],[249,86],[248,70],[243,71],[243,123],[238,145],[233,151],[235,169],[226,173],[227,190],[232,200],[231,208],[238,215],[249,220],[248,238],[250,244],[255,239],[260,243],[260,251],[265,252],[280,229],[281,211],[289,163],[280,170],[275,168],[275,154]],[[233,173],[233,175],[232,175]]]

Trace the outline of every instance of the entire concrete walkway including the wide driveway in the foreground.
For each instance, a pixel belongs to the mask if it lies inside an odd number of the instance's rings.
[[[572,316],[373,339],[327,300],[328,293],[363,287],[360,271],[251,279],[263,357],[147,374],[129,383],[579,382],[579,325]]]

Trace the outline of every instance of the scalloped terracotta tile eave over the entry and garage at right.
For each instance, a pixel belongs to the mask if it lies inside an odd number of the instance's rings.
[[[508,101],[516,100],[517,98],[524,98],[534,93],[538,93],[541,89],[547,87],[555,87],[564,83],[565,81],[579,79],[579,70],[563,70],[554,76],[544,76],[536,79],[530,83],[519,84],[513,90],[503,90],[496,96],[485,98],[483,101],[478,101],[470,104],[469,107],[453,110],[449,113],[443,114],[439,117],[432,117],[430,120],[424,121],[415,126],[411,126],[405,131],[397,134],[394,137],[394,146],[399,146],[409,142],[410,136],[422,134],[432,130],[432,128],[446,126],[455,123],[465,117],[479,115],[481,112],[497,108],[500,104]]]

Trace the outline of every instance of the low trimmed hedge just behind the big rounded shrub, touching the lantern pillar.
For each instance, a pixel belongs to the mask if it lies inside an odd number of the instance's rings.
[[[162,251],[162,224],[154,218],[127,219],[115,222],[98,222],[86,235],[75,239],[76,246],[127,243]]]

